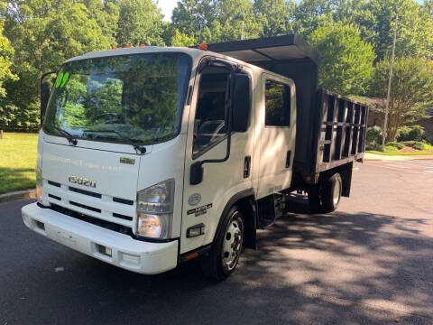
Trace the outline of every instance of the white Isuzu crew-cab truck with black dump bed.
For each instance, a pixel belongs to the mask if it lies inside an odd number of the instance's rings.
[[[296,35],[98,51],[56,73],[23,222],[136,273],[198,257],[226,278],[284,194],[333,211],[364,156],[367,107],[318,90]]]

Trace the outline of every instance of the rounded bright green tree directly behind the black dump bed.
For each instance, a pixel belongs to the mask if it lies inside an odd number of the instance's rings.
[[[354,25],[326,23],[309,41],[320,52],[319,86],[344,95],[364,95],[373,75],[373,46]]]

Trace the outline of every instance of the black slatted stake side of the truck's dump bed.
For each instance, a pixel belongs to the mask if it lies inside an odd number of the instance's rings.
[[[363,159],[368,107],[327,90],[318,90],[316,172]]]

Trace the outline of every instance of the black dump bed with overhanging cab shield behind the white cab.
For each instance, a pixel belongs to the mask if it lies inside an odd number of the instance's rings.
[[[295,180],[315,182],[319,172],[363,158],[368,108],[318,89],[319,53],[308,42],[291,34],[214,43],[208,50],[295,81]]]

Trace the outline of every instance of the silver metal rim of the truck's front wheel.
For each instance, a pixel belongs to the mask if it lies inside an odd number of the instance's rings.
[[[235,212],[235,215],[237,212]],[[235,268],[242,248],[242,230],[239,221],[232,218],[226,228],[226,234],[223,240],[223,263],[229,271]]]

